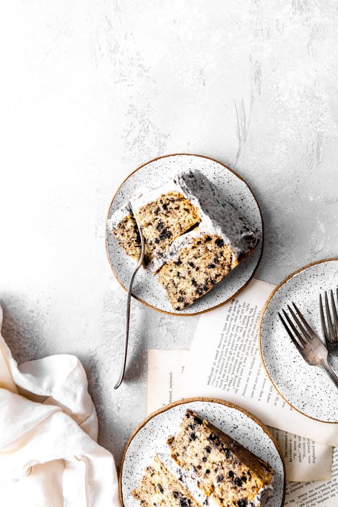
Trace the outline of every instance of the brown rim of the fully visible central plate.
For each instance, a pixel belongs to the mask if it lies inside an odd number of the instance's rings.
[[[240,287],[238,289],[238,291],[233,294],[230,298],[228,298],[226,301],[223,301],[221,303],[218,303],[217,305],[215,306],[211,306],[210,308],[207,308],[206,310],[201,310],[201,311],[198,311],[198,312],[194,312],[194,313],[179,313],[179,312],[169,312],[167,310],[161,310],[161,308],[156,308],[155,306],[147,303],[146,301],[144,301],[143,299],[139,298],[138,296],[135,296],[133,293],[132,293],[132,297],[134,299],[136,299],[137,301],[139,301],[140,303],[142,303],[143,305],[147,306],[148,308],[152,308],[153,310],[156,310],[160,313],[165,313],[166,315],[176,315],[176,316],[179,316],[179,317],[193,317],[195,315],[200,315],[201,313],[206,313],[206,312],[209,312],[211,310],[214,310],[215,308],[219,308],[220,306],[223,306],[225,305],[226,303],[229,303],[229,301],[231,301],[232,299],[234,299],[236,296],[238,296],[238,294],[240,292],[243,291],[243,289],[250,283],[250,281],[252,280],[253,278],[253,275],[255,274],[259,264],[260,264],[260,261],[261,261],[261,258],[262,258],[262,255],[263,255],[263,250],[264,250],[264,239],[265,239],[265,234],[264,234],[264,221],[263,221],[263,215],[262,215],[262,212],[261,212],[261,209],[260,209],[260,206],[259,206],[259,203],[258,203],[258,200],[255,196],[255,194],[253,193],[251,187],[247,184],[247,182],[245,181],[245,179],[240,176],[236,171],[234,171],[233,169],[231,169],[229,166],[227,166],[226,164],[223,164],[222,162],[220,162],[219,160],[217,159],[214,159],[212,157],[207,157],[206,155],[198,155],[196,153],[170,153],[168,155],[161,155],[159,157],[155,157],[151,160],[148,160],[147,162],[144,162],[143,164],[139,165],[138,167],[136,167],[136,169],[134,169],[133,171],[131,171],[130,174],[128,174],[128,176],[125,177],[125,179],[123,180],[123,182],[121,183],[121,185],[118,187],[118,189],[116,190],[114,196],[112,197],[111,201],[110,201],[110,204],[108,206],[108,211],[107,211],[107,214],[106,214],[106,219],[105,219],[105,234],[104,234],[104,243],[105,243],[105,252],[106,252],[106,256],[107,256],[107,260],[108,260],[108,264],[110,266],[110,269],[112,271],[112,274],[115,276],[116,280],[118,281],[118,283],[121,285],[121,287],[124,289],[125,292],[128,292],[128,288],[125,287],[123,285],[123,283],[119,280],[118,278],[118,275],[115,273],[114,271],[114,268],[112,267],[111,265],[111,262],[110,262],[110,259],[109,259],[109,254],[108,254],[108,244],[107,244],[107,222],[108,222],[108,216],[109,216],[109,212],[110,212],[110,208],[111,208],[111,205],[112,203],[114,202],[114,199],[115,197],[117,196],[117,193],[119,192],[119,190],[121,189],[121,187],[125,184],[125,182],[127,181],[127,179],[130,178],[130,176],[132,174],[134,174],[134,172],[138,171],[138,169],[141,169],[142,167],[144,167],[145,165],[148,165],[152,162],[155,162],[156,160],[160,160],[162,158],[167,158],[167,157],[176,157],[176,156],[181,156],[181,155],[185,155],[185,156],[190,156],[190,157],[200,157],[200,158],[205,158],[205,159],[208,159],[208,160],[212,160],[213,162],[216,162],[220,165],[222,165],[223,167],[225,167],[226,169],[228,169],[229,171],[231,171],[233,174],[235,174],[235,176],[237,176],[239,179],[242,180],[242,182],[245,183],[245,185],[248,187],[249,191],[251,192],[252,194],[252,197],[254,198],[254,200],[256,201],[256,204],[258,206],[258,211],[259,211],[259,214],[260,214],[260,220],[261,220],[261,230],[262,230],[262,233],[261,233],[261,250],[260,250],[260,256],[259,256],[259,259],[257,261],[257,264],[256,266],[254,267],[252,273],[251,273],[251,276],[249,277],[249,279],[244,283],[244,285],[242,285],[242,287]]]

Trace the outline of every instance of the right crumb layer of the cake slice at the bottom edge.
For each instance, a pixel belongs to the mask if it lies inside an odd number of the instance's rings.
[[[272,496],[271,466],[191,410],[168,445],[178,465],[221,507],[263,507]]]

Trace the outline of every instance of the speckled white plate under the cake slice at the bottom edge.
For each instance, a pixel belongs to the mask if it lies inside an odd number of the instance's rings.
[[[171,403],[150,415],[132,434],[125,448],[120,471],[120,498],[124,507],[139,507],[131,491],[139,485],[144,468],[158,453],[167,464],[171,461],[169,436],[178,431],[189,408],[227,432],[261,459],[268,461],[275,474],[274,495],[269,507],[284,505],[285,466],[282,453],[269,429],[244,409],[209,398],[194,398]],[[168,457],[164,459],[165,456]],[[169,466],[169,464],[168,464]]]

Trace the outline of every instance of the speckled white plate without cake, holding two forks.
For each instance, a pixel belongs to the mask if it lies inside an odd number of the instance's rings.
[[[260,348],[267,373],[283,398],[296,410],[324,422],[338,422],[338,390],[319,368],[297,352],[278,317],[293,301],[322,338],[319,293],[338,285],[338,259],[305,266],[273,291],[260,316]],[[329,356],[338,374],[338,358]]]

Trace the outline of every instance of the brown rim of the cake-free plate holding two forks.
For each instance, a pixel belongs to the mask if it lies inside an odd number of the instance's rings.
[[[293,276],[297,275],[298,273],[301,273],[302,271],[305,271],[306,269],[308,268],[311,268],[312,266],[316,266],[318,264],[322,264],[324,262],[330,262],[330,261],[338,261],[338,257],[329,257],[327,259],[321,259],[320,261],[315,261],[315,262],[311,262],[310,264],[306,264],[305,266],[303,266],[302,268],[299,268],[297,269],[296,271],[293,271],[293,273],[290,273],[286,278],[284,278],[283,281],[281,281],[277,287],[275,287],[272,291],[272,293],[270,294],[270,296],[268,297],[261,313],[260,313],[260,317],[259,317],[259,321],[258,321],[258,327],[257,327],[257,339],[258,339],[258,351],[259,351],[259,355],[260,355],[260,360],[261,360],[261,363],[265,369],[265,372],[269,378],[269,380],[271,381],[272,385],[275,387],[275,389],[277,390],[278,394],[282,397],[282,399],[293,409],[293,410],[296,410],[297,412],[299,412],[299,414],[302,414],[302,415],[305,415],[306,417],[308,417],[309,419],[312,419],[313,421],[317,421],[317,422],[324,422],[325,424],[337,424],[338,423],[338,419],[336,421],[323,421],[322,419],[316,419],[315,417],[312,417],[311,415],[308,415],[306,414],[305,412],[302,412],[301,410],[297,409],[296,407],[294,407],[286,398],[285,396],[280,392],[280,390],[277,388],[275,382],[273,381],[273,379],[271,378],[270,376],[270,373],[268,372],[268,368],[265,364],[265,360],[264,360],[264,357],[263,357],[263,352],[262,352],[262,347],[261,347],[261,324],[262,324],[262,321],[263,321],[263,318],[264,318],[264,315],[265,315],[265,312],[272,300],[272,298],[274,297],[274,295],[277,293],[277,291],[288,281],[290,280]]]

